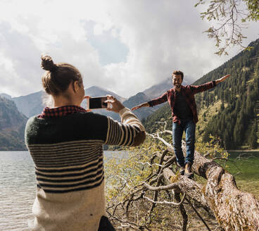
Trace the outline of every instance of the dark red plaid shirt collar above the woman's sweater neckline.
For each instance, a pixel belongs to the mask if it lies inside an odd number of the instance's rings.
[[[75,105],[69,106],[60,106],[58,108],[44,108],[42,114],[37,116],[38,118],[45,119],[45,118],[60,118],[62,116],[66,116],[72,113],[79,113],[79,112],[87,112],[84,108]]]

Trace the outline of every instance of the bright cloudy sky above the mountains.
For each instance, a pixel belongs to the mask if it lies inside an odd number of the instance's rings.
[[[75,65],[84,87],[123,97],[182,70],[194,82],[240,52],[215,55],[215,41],[194,0],[0,0],[0,93],[42,90],[41,54]],[[244,46],[259,23],[244,30]],[[220,76],[219,76],[220,77]]]

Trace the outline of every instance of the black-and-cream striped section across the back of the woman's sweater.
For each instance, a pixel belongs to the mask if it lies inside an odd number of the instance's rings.
[[[103,141],[29,145],[37,187],[64,193],[91,189],[103,181]]]

